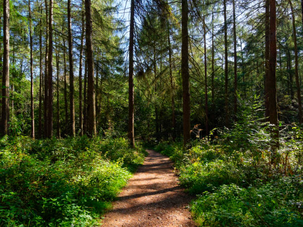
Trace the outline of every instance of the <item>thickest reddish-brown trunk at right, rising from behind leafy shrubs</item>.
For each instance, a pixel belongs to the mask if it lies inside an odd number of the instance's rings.
[[[274,146],[279,146],[279,126],[277,112],[277,88],[276,88],[276,65],[277,65],[277,37],[276,37],[276,1],[269,0],[270,15],[270,36],[269,36],[269,83],[268,83],[268,100],[269,100],[269,122],[275,125],[272,137]],[[275,157],[274,157],[275,159]]]

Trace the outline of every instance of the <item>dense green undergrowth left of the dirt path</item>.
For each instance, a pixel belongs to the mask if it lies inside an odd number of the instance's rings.
[[[0,141],[0,226],[94,226],[146,151],[125,138]]]

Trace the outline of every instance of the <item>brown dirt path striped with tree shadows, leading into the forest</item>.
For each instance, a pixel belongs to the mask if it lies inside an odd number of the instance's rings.
[[[178,185],[169,158],[149,156],[113,203],[102,227],[194,227],[187,208],[192,199]]]

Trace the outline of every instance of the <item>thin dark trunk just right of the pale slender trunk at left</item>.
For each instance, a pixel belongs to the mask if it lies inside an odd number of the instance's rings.
[[[41,4],[41,12],[39,19],[39,45],[40,45],[40,59],[39,59],[39,114],[38,114],[38,133],[39,138],[42,138],[42,4]]]

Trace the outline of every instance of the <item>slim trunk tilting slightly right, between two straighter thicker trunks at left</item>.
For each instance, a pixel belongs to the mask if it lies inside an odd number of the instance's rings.
[[[81,44],[79,58],[79,129],[80,136],[83,136],[83,112],[82,112],[82,61],[83,61],[83,39],[84,39],[84,13],[82,11]]]

